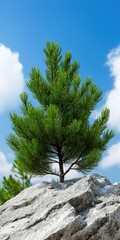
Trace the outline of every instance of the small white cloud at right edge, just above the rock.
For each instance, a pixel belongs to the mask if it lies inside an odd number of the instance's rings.
[[[100,163],[101,168],[120,167],[120,142],[113,144],[107,150],[107,156]]]

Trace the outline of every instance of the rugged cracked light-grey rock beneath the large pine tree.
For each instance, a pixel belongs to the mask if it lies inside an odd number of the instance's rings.
[[[0,240],[120,240],[120,185],[100,175],[32,186],[0,207]]]

